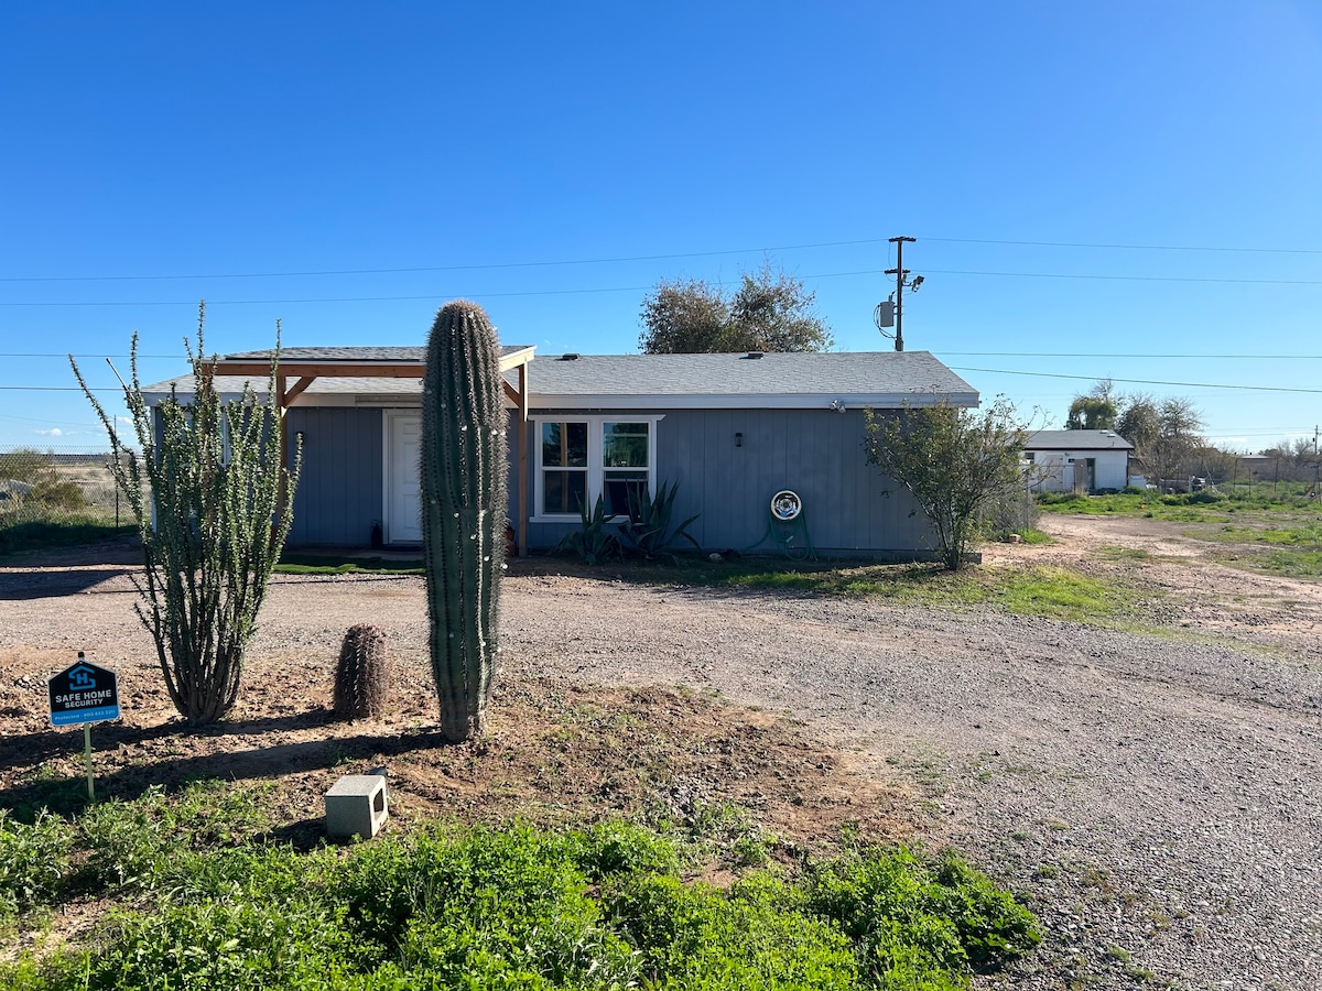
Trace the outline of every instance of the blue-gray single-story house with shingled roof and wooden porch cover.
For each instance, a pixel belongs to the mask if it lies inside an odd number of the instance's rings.
[[[676,519],[705,550],[920,558],[935,548],[910,494],[867,464],[865,411],[978,403],[927,351],[562,354],[504,348],[510,521],[521,552],[549,550],[598,495],[678,484]],[[270,351],[210,366],[223,395],[264,391]],[[286,348],[279,400],[303,443],[291,547],[387,547],[422,539],[418,514],[423,348]],[[144,390],[160,402],[192,377]],[[882,492],[892,489],[890,497]],[[791,490],[801,513],[773,518]],[[785,515],[781,506],[781,515]],[[797,543],[795,543],[797,542]]]

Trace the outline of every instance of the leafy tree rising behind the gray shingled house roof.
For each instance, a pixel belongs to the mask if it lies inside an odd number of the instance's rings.
[[[816,293],[769,263],[744,272],[739,288],[661,280],[642,300],[644,354],[824,351],[834,341],[813,312]]]

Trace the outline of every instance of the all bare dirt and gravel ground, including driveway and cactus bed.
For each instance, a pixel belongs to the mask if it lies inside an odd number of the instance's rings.
[[[694,821],[738,803],[820,846],[954,843],[1027,897],[1047,943],[1017,987],[1322,987],[1322,583],[1223,563],[1195,527],[1046,517],[1059,566],[1145,589],[1138,629],[986,609],[624,581],[514,562],[490,733],[435,736],[423,583],[282,576],[234,719],[180,732],[132,614],[131,548],[0,568],[0,807],[77,807],[81,733],[45,680],[87,650],[124,719],[94,729],[100,794],[192,777],[274,782],[280,836],[385,764],[395,822],[613,811]],[[340,637],[391,636],[394,710],[329,721]],[[1144,629],[1147,628],[1147,629]],[[1138,975],[1138,976],[1136,976]],[[1146,978],[1142,978],[1146,979]],[[1274,982],[1274,984],[1273,984]]]

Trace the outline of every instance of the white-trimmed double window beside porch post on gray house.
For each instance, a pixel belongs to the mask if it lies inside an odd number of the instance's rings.
[[[631,498],[656,488],[660,416],[539,418],[534,519],[578,519],[598,495],[611,517],[627,515]]]

